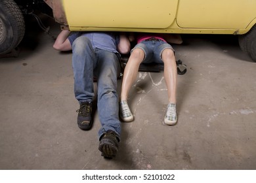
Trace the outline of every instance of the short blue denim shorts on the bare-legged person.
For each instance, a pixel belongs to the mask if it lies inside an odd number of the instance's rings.
[[[137,44],[133,48],[133,50],[135,48],[140,48],[144,51],[145,57],[142,63],[163,63],[163,60],[161,59],[161,54],[163,50],[165,50],[166,48],[171,48],[171,50],[175,52],[175,50],[170,44],[161,40],[142,41],[139,44]],[[133,52],[133,50],[131,50],[131,52]]]

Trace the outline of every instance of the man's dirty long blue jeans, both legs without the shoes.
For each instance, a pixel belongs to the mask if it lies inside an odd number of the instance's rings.
[[[87,37],[78,37],[72,44],[72,65],[74,71],[74,93],[79,103],[92,102],[94,97],[93,76],[98,86],[98,117],[102,127],[101,137],[112,130],[121,134],[117,94],[117,76],[120,72],[119,58],[114,52],[93,49]]]

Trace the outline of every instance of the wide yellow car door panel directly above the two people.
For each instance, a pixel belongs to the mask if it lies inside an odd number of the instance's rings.
[[[163,29],[173,24],[179,0],[64,0],[71,30],[86,27]]]

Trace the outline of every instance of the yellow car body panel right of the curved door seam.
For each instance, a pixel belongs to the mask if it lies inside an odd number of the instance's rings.
[[[245,29],[255,18],[251,0],[180,0],[177,24],[194,29]]]

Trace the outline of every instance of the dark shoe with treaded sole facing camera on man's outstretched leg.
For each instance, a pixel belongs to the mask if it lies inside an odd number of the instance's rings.
[[[101,156],[104,156],[104,158],[114,158],[116,157],[118,146],[116,146],[110,139],[102,139],[98,146],[98,150],[102,152]]]

